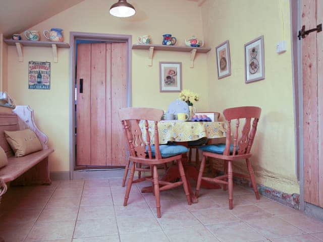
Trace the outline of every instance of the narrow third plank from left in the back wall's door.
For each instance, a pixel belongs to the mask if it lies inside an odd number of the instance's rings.
[[[111,44],[106,44],[106,165],[112,165],[111,90]]]

